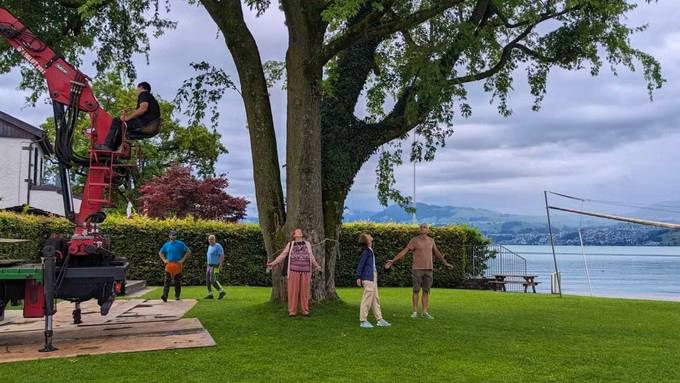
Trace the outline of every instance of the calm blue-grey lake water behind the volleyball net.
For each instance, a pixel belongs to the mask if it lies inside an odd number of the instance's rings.
[[[554,271],[550,246],[507,245],[527,260],[527,273],[538,275],[537,290],[550,293]],[[586,246],[594,296],[680,301],[680,247]],[[580,246],[556,246],[562,293],[590,295]]]

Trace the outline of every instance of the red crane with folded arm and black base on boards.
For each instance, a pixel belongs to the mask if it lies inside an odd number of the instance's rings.
[[[128,264],[115,258],[108,238],[100,233],[99,226],[106,218],[102,208],[112,206],[113,189],[131,170],[127,164],[130,145],[123,139],[120,152],[94,149],[95,144],[103,144],[111,128],[112,117],[97,101],[88,77],[2,7],[0,36],[47,80],[56,124],[55,154],[59,162],[64,211],[75,224],[73,235],[48,239],[42,251],[44,260],[40,283],[0,279],[0,317],[6,302],[44,294],[44,302],[36,301],[39,306],[34,310],[31,310],[30,302],[24,301],[24,315],[45,316],[45,351],[51,351],[54,349],[52,315],[56,311],[55,299],[75,302],[73,319],[80,323],[81,302],[97,299],[101,314],[106,315],[115,296],[124,290]],[[72,148],[81,112],[87,113],[90,119],[90,126],[84,132],[90,139],[87,156],[74,152]],[[69,182],[69,171],[73,167],[85,169],[87,174],[78,212],[73,208]]]

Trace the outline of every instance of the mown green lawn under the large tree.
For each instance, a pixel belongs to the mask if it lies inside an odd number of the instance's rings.
[[[680,382],[680,304],[435,290],[435,320],[410,319],[410,291],[380,290],[391,328],[360,329],[360,289],[286,316],[269,289],[200,301],[217,347],[0,365],[4,382]],[[158,292],[148,297],[156,298]],[[205,295],[186,288],[185,297]],[[344,302],[344,303],[343,303]],[[1,358],[0,354],[0,358]]]

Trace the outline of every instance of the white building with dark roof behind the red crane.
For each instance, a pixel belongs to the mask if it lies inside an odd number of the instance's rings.
[[[45,132],[0,111],[0,209],[29,205],[64,215],[61,188],[43,183],[50,155]],[[78,211],[80,200],[73,202]]]

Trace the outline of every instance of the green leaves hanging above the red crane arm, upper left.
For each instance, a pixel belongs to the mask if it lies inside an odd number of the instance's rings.
[[[97,74],[114,70],[130,80],[136,77],[135,54],[148,54],[150,37],[177,25],[161,14],[168,5],[163,0],[2,1],[3,7],[70,63],[80,66],[85,51],[95,51]],[[20,88],[33,90],[29,101],[35,103],[45,90],[45,79],[0,39],[0,74],[17,66],[23,75]]]

